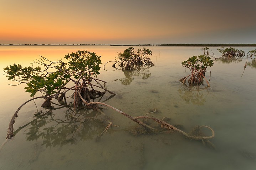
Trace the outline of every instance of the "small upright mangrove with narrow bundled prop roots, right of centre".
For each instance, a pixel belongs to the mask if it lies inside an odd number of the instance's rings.
[[[181,78],[180,81],[183,84],[186,84],[186,80],[188,79],[189,86],[200,86],[200,84],[204,83],[205,72],[207,67],[211,67],[214,64],[214,61],[211,60],[210,56],[208,55],[199,55],[189,57],[188,60],[181,62],[183,67],[189,68],[191,74]],[[210,78],[211,78],[211,71]],[[210,81],[209,78],[209,81]],[[209,81],[205,78],[208,87],[210,87]]]

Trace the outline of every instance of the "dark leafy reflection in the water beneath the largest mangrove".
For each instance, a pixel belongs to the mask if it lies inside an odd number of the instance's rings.
[[[48,110],[35,114],[34,120],[17,131],[28,126],[27,141],[37,141],[41,138],[41,145],[47,148],[74,144],[77,139],[93,139],[101,134],[104,122],[102,115],[93,110],[82,109],[75,113],[67,109],[61,116],[53,110]]]

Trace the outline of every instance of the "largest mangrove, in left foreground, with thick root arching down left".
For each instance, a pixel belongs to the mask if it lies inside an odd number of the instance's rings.
[[[114,95],[113,92],[107,90],[105,81],[96,78],[99,75],[100,57],[89,51],[77,51],[76,53],[67,54],[65,56],[67,62],[61,60],[50,61],[41,56],[41,59],[34,61],[33,64],[39,65],[35,68],[33,66],[22,68],[20,64],[14,64],[4,68],[4,72],[9,77],[9,80],[15,81],[18,84],[25,83],[27,85],[25,87],[26,92],[31,93],[30,97],[34,97],[37,92],[42,93],[43,96],[31,100],[44,98],[43,108],[51,109],[52,99],[57,99],[60,104],[67,105],[66,94],[69,91],[73,91],[73,107],[77,110],[79,107],[86,107],[78,96],[78,89],[81,90],[80,93],[88,102],[102,97],[106,92]],[[70,84],[74,85],[71,86]],[[22,104],[20,108],[27,102]],[[10,139],[14,136],[14,119],[17,117],[20,108],[10,121],[6,138]]]

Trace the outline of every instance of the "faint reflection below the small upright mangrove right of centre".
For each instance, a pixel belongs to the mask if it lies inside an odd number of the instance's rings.
[[[204,105],[209,93],[207,87],[200,88],[200,86],[181,86],[178,91],[182,100],[195,105]]]

